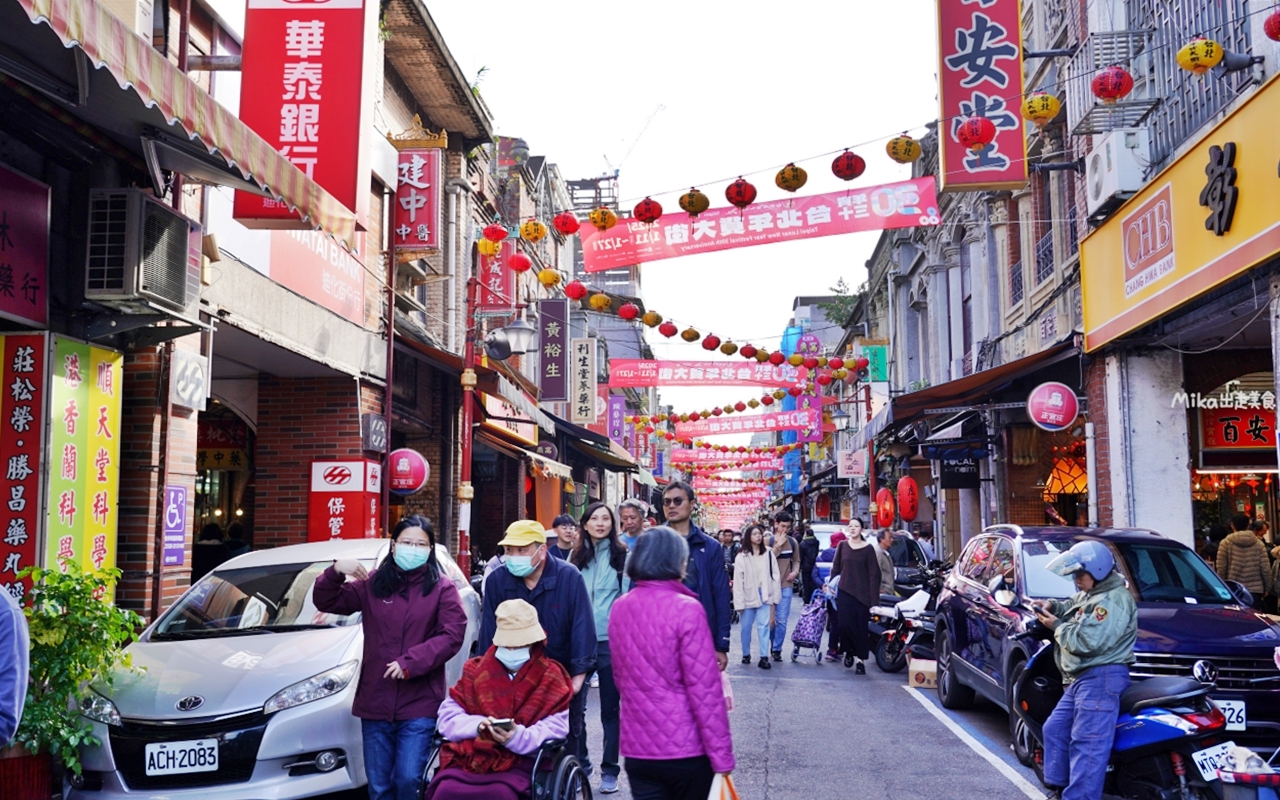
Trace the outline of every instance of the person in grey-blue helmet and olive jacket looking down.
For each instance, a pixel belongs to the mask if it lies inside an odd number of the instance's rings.
[[[1138,611],[1111,549],[1078,541],[1046,568],[1075,580],[1066,600],[1034,600],[1036,617],[1053,631],[1064,692],[1044,722],[1044,783],[1050,799],[1097,800],[1115,741],[1120,694],[1138,639]]]

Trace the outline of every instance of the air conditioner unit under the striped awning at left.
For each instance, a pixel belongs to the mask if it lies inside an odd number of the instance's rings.
[[[84,298],[133,314],[191,314],[200,298],[198,233],[141,189],[92,189]]]

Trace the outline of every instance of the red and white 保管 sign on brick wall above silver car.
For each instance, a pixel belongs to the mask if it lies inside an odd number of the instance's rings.
[[[311,462],[307,541],[376,538],[381,475],[376,461]]]

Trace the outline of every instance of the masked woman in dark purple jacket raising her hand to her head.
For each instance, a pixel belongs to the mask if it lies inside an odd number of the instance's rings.
[[[376,570],[335,561],[316,579],[312,598],[323,612],[361,612],[365,654],[351,710],[364,732],[369,799],[417,800],[444,700],[444,664],[467,630],[458,590],[435,561],[431,524],[404,517]]]

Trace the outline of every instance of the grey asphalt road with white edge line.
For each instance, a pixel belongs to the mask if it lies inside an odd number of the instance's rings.
[[[800,612],[795,600],[790,623]],[[972,800],[1042,797],[1034,773],[1009,746],[1009,718],[979,701],[948,712],[932,689],[908,690],[906,672],[867,675],[840,663],[790,659],[764,671],[741,663],[733,626],[730,714],[742,800]],[[808,652],[806,652],[808,653]],[[756,658],[759,654],[755,654]],[[591,690],[588,726],[593,760],[602,742],[598,692]],[[599,771],[591,785],[599,786]],[[596,797],[602,795],[596,791]],[[630,799],[626,771],[621,791]]]

